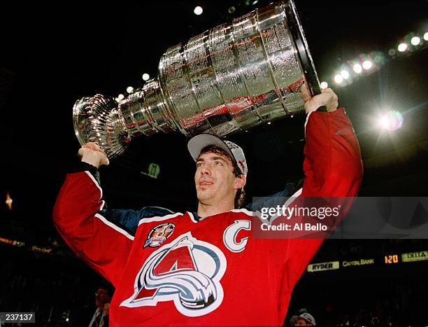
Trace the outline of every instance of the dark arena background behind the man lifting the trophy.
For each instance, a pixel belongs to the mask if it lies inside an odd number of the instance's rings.
[[[428,41],[404,53],[388,52],[411,32],[428,32],[428,2],[296,3],[320,80],[338,94],[362,148],[359,195],[427,196]],[[1,312],[35,311],[40,326],[87,325],[94,312],[101,277],[69,251],[52,225],[55,197],[77,160],[71,121],[76,99],[126,94],[128,86],[143,85],[143,73],[157,75],[169,46],[266,4],[1,5]],[[202,15],[194,15],[197,5],[204,8]],[[235,11],[229,13],[232,6]],[[373,51],[383,55],[380,69],[348,85],[334,83],[341,64]],[[399,130],[382,132],[374,122],[378,113],[389,110],[401,112],[404,123]],[[301,178],[303,123],[299,115],[231,137],[248,159],[249,198],[275,193]],[[141,173],[152,162],[160,168],[157,179]],[[101,184],[112,208],[159,205],[185,211],[197,205],[193,174],[185,137],[159,134],[136,139],[121,158],[101,168]],[[318,325],[368,325],[376,317],[392,326],[428,323],[422,313],[428,307],[428,260],[401,262],[402,253],[427,250],[426,239],[324,242],[313,263],[375,258],[375,264],[306,272],[286,323],[301,308]],[[397,255],[398,262],[385,263],[390,255]]]

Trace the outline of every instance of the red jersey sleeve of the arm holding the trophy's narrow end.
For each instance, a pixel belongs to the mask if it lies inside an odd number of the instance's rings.
[[[134,237],[102,214],[102,190],[90,172],[68,174],[55,203],[55,227],[66,244],[117,286]]]

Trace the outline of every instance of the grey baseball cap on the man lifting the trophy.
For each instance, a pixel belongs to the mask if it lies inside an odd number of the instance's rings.
[[[218,146],[219,148],[222,148],[224,151],[229,153],[231,158],[234,158],[236,161],[236,164],[241,173],[247,176],[247,160],[245,160],[245,155],[243,154],[241,146],[234,144],[234,142],[222,140],[220,137],[216,137],[213,134],[207,133],[196,135],[192,137],[192,139],[190,139],[187,143],[187,148],[189,149],[190,155],[192,155],[194,161],[197,160],[201,150],[206,146]]]

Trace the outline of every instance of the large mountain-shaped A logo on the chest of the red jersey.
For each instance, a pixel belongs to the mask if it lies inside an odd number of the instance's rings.
[[[220,249],[187,232],[145,260],[135,280],[134,294],[120,305],[144,307],[173,301],[185,316],[203,316],[222,303],[220,279],[226,265]]]

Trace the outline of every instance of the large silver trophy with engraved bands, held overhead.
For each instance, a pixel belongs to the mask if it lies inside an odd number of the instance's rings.
[[[140,135],[224,137],[299,113],[304,84],[320,93],[294,3],[282,1],[172,46],[159,76],[119,103],[79,99],[73,124],[81,145],[96,142],[113,158]]]

